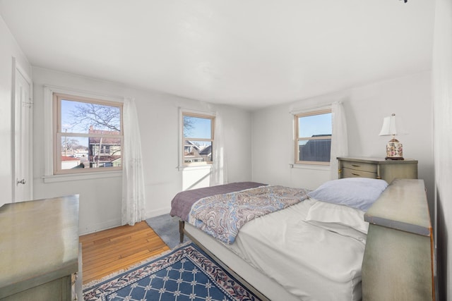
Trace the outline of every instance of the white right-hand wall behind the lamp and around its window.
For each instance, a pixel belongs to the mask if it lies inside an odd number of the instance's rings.
[[[329,180],[329,167],[290,168],[289,164],[294,161],[290,111],[342,101],[347,116],[350,156],[386,156],[386,142],[391,137],[379,136],[383,117],[396,113],[403,118],[408,131],[408,135],[398,137],[403,143],[403,156],[419,160],[419,178],[424,179],[432,203],[430,76],[430,72],[419,73],[253,112],[253,180],[310,189]]]

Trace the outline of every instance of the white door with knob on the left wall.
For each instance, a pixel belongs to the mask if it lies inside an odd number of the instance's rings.
[[[16,65],[14,79],[14,175],[13,202],[32,199],[32,83],[28,75]]]

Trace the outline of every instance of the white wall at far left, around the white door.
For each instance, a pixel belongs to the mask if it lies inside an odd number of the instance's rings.
[[[12,75],[13,57],[16,63],[30,73],[30,64],[20,50],[16,40],[0,16],[0,141],[2,142],[2,154],[0,156],[0,206],[12,201],[13,195],[13,145],[12,134]]]

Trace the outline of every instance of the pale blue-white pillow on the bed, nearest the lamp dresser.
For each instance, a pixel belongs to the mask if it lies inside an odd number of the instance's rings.
[[[343,178],[330,180],[308,193],[321,202],[347,205],[367,211],[388,187],[385,180],[371,178]]]

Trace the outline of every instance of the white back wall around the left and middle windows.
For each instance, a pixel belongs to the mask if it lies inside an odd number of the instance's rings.
[[[134,97],[138,111],[143,152],[147,216],[169,212],[172,197],[197,183],[206,169],[179,171],[179,106],[185,109],[218,111],[222,116],[227,149],[227,182],[251,180],[251,113],[230,106],[219,106],[183,99],[153,91],[137,90],[113,82],[83,78],[43,68],[33,68],[34,180],[37,199],[60,195],[80,195],[80,231],[89,233],[121,223],[121,176],[97,180],[44,183],[44,85],[83,90],[93,94]],[[202,180],[201,180],[202,182]],[[206,185],[208,182],[202,182]],[[188,185],[191,186],[191,185]],[[199,187],[199,185],[194,185]]]

